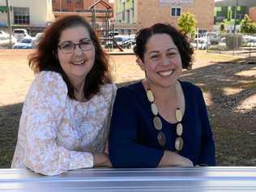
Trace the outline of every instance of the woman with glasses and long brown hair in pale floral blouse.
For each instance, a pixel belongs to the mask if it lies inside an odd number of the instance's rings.
[[[111,167],[105,144],[116,87],[91,25],[77,15],[58,19],[29,66],[37,75],[23,105],[11,168],[56,175]]]

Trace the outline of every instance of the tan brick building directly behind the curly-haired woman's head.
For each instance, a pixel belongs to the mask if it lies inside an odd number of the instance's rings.
[[[194,14],[199,32],[212,31],[214,26],[214,0],[115,0],[115,4],[115,28],[121,33],[159,22],[177,27],[184,12]]]

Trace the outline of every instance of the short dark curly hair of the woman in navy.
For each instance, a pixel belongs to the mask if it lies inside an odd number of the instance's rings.
[[[154,34],[167,34],[172,37],[174,44],[181,54],[182,68],[191,70],[193,62],[194,49],[190,45],[185,35],[168,23],[156,23],[150,28],[143,28],[136,34],[136,45],[134,53],[144,62],[143,56],[146,49],[147,41]]]

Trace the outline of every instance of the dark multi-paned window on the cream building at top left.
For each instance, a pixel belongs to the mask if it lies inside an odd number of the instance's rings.
[[[29,8],[28,7],[14,7],[14,21],[15,24],[29,25]]]

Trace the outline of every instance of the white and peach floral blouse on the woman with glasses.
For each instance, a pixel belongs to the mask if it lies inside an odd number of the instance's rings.
[[[116,90],[105,84],[91,100],[79,102],[67,96],[61,75],[41,72],[23,105],[11,168],[45,175],[92,168],[92,153],[105,151]]]

